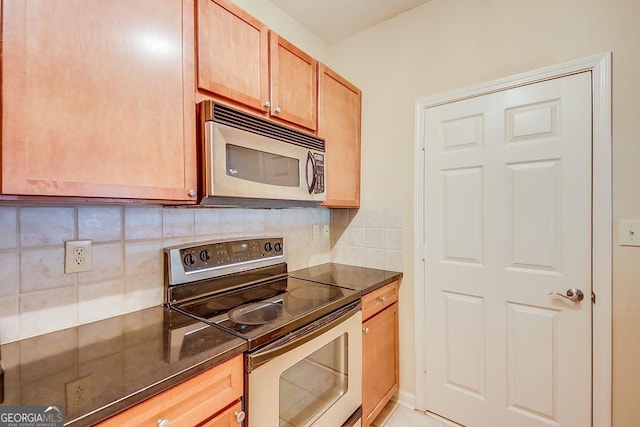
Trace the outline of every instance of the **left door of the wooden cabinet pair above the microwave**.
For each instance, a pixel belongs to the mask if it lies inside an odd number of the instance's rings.
[[[228,0],[198,3],[198,89],[263,110],[269,100],[269,31]]]

